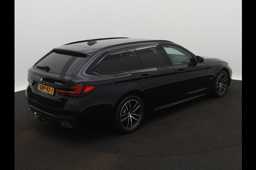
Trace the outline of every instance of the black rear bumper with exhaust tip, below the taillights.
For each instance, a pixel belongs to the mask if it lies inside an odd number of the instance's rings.
[[[72,127],[80,127],[90,124],[94,120],[109,124],[112,121],[113,107],[116,99],[95,98],[90,94],[83,97],[70,97],[67,99],[64,107],[55,107],[47,105],[44,102],[33,97],[31,89],[26,88],[26,99],[29,108],[33,113],[42,116],[52,122],[61,125],[66,123]],[[61,116],[63,114],[73,115],[75,117]]]

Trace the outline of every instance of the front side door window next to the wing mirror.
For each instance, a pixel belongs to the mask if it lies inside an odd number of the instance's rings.
[[[187,51],[172,45],[163,45],[166,53],[171,59],[172,63],[175,64],[186,64],[195,62],[195,59]]]

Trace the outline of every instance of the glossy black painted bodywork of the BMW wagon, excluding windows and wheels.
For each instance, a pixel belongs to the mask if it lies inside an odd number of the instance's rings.
[[[36,85],[28,85],[26,88],[29,108],[57,123],[66,122],[73,127],[79,127],[91,117],[111,122],[113,110],[128,94],[140,96],[146,108],[159,110],[209,93],[215,75],[222,69],[227,71],[229,78],[232,77],[232,71],[227,66],[227,62],[205,58],[202,63],[172,65],[163,49],[162,52],[169,62],[166,66],[101,74],[96,72],[94,67],[107,54],[141,46],[175,45],[186,50],[196,59],[195,54],[169,41],[125,38],[114,40],[109,44],[108,40],[98,40],[98,42],[101,41],[104,43],[87,45],[86,41],[54,48],[87,54],[87,61],[76,71],[75,76],[54,74],[34,67],[28,70],[28,77],[35,82],[54,88],[68,88],[70,85],[80,84],[95,85],[93,92],[79,97],[63,96],[55,92],[52,96],[38,91],[37,83],[35,83]],[[40,77],[43,77],[43,82],[40,81]],[[55,82],[62,82],[63,85],[55,84]],[[65,113],[72,114],[75,118],[61,116]]]

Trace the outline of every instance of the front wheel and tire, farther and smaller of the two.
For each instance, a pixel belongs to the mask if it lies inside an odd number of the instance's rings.
[[[229,82],[229,79],[228,79],[227,72],[226,71],[218,72],[213,82],[212,95],[214,97],[224,96],[224,94],[227,91],[228,82]]]

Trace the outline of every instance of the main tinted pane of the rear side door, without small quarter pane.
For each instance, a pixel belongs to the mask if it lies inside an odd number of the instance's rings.
[[[160,67],[166,65],[159,47],[149,46],[135,49],[143,68]]]

